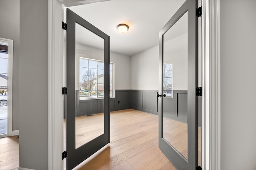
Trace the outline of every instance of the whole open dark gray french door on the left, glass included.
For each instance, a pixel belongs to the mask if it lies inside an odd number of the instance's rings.
[[[110,142],[110,37],[70,9],[66,15],[66,169],[70,170]]]

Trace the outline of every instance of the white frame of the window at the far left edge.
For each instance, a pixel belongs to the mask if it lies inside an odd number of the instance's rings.
[[[12,136],[12,67],[13,67],[13,40],[0,38],[1,43],[8,44],[8,81],[7,81],[7,133],[1,137]]]

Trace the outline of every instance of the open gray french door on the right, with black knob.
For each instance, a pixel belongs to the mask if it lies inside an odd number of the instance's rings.
[[[159,148],[178,170],[198,166],[197,0],[186,0],[159,33]]]

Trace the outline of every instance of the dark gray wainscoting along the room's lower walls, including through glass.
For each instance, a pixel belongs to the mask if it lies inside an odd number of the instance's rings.
[[[158,90],[115,90],[110,98],[110,111],[136,109],[158,115]],[[186,90],[174,90],[173,98],[164,98],[164,116],[187,123],[188,94]],[[103,112],[103,99],[80,100],[79,114],[93,115]],[[64,115],[65,118],[65,115]],[[202,97],[198,98],[198,125],[202,126]]]

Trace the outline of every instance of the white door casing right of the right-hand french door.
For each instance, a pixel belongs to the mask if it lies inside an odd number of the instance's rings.
[[[202,168],[220,170],[220,8],[202,0]]]

